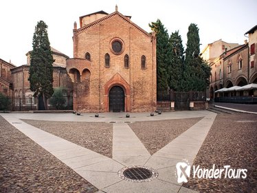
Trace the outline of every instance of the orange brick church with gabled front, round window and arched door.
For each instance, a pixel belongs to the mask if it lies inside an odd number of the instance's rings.
[[[74,110],[149,112],[156,108],[156,37],[131,17],[100,11],[74,23]]]

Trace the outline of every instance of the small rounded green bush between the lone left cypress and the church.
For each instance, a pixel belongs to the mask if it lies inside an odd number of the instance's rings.
[[[53,105],[58,110],[65,109],[65,96],[64,96],[65,89],[63,88],[56,88],[54,89],[54,94],[50,98],[50,104]]]

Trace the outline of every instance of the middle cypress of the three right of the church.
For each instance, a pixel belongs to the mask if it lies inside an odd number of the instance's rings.
[[[169,39],[170,45],[170,65],[169,65],[169,82],[170,89],[181,91],[181,79],[183,78],[183,61],[184,61],[184,48],[182,44],[179,31],[172,32]]]

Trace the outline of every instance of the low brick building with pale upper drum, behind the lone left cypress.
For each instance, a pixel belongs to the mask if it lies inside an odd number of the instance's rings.
[[[73,85],[66,72],[66,59],[69,57],[54,48],[51,48],[51,50],[55,60],[53,63],[53,87],[64,88],[67,91],[65,96],[67,96],[67,99],[70,98],[69,101],[71,101],[73,98]],[[40,110],[37,100],[34,99],[34,92],[30,90],[30,81],[27,80],[30,75],[30,52],[27,52],[26,56],[27,64],[10,69],[13,92],[12,110]]]

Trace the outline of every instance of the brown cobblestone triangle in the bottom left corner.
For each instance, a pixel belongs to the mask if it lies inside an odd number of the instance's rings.
[[[97,191],[1,116],[0,123],[0,192]]]

